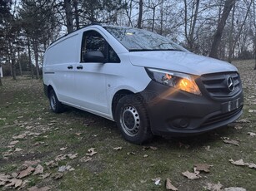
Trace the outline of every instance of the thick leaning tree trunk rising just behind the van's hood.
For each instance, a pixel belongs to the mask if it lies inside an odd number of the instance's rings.
[[[226,21],[229,15],[229,12],[231,11],[233,7],[233,3],[235,0],[226,0],[223,8],[222,16],[220,17],[220,20],[218,22],[217,31],[214,34],[213,37],[213,44],[211,47],[211,51],[209,56],[213,58],[218,58],[218,46],[221,42],[221,37],[223,35],[223,30],[226,25]]]

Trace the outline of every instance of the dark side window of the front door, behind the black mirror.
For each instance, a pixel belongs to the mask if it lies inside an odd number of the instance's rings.
[[[105,58],[105,62],[120,62],[117,53],[108,44],[104,37],[96,31],[83,32],[81,62],[86,62],[83,58],[83,55],[88,51],[101,51]]]

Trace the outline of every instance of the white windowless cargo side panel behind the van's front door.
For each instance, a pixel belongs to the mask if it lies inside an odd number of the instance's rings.
[[[78,33],[64,37],[48,48],[43,64],[43,82],[53,86],[58,100],[72,102],[75,96],[74,66],[79,59]],[[69,66],[73,66],[71,69]],[[69,68],[69,69],[68,69]]]

